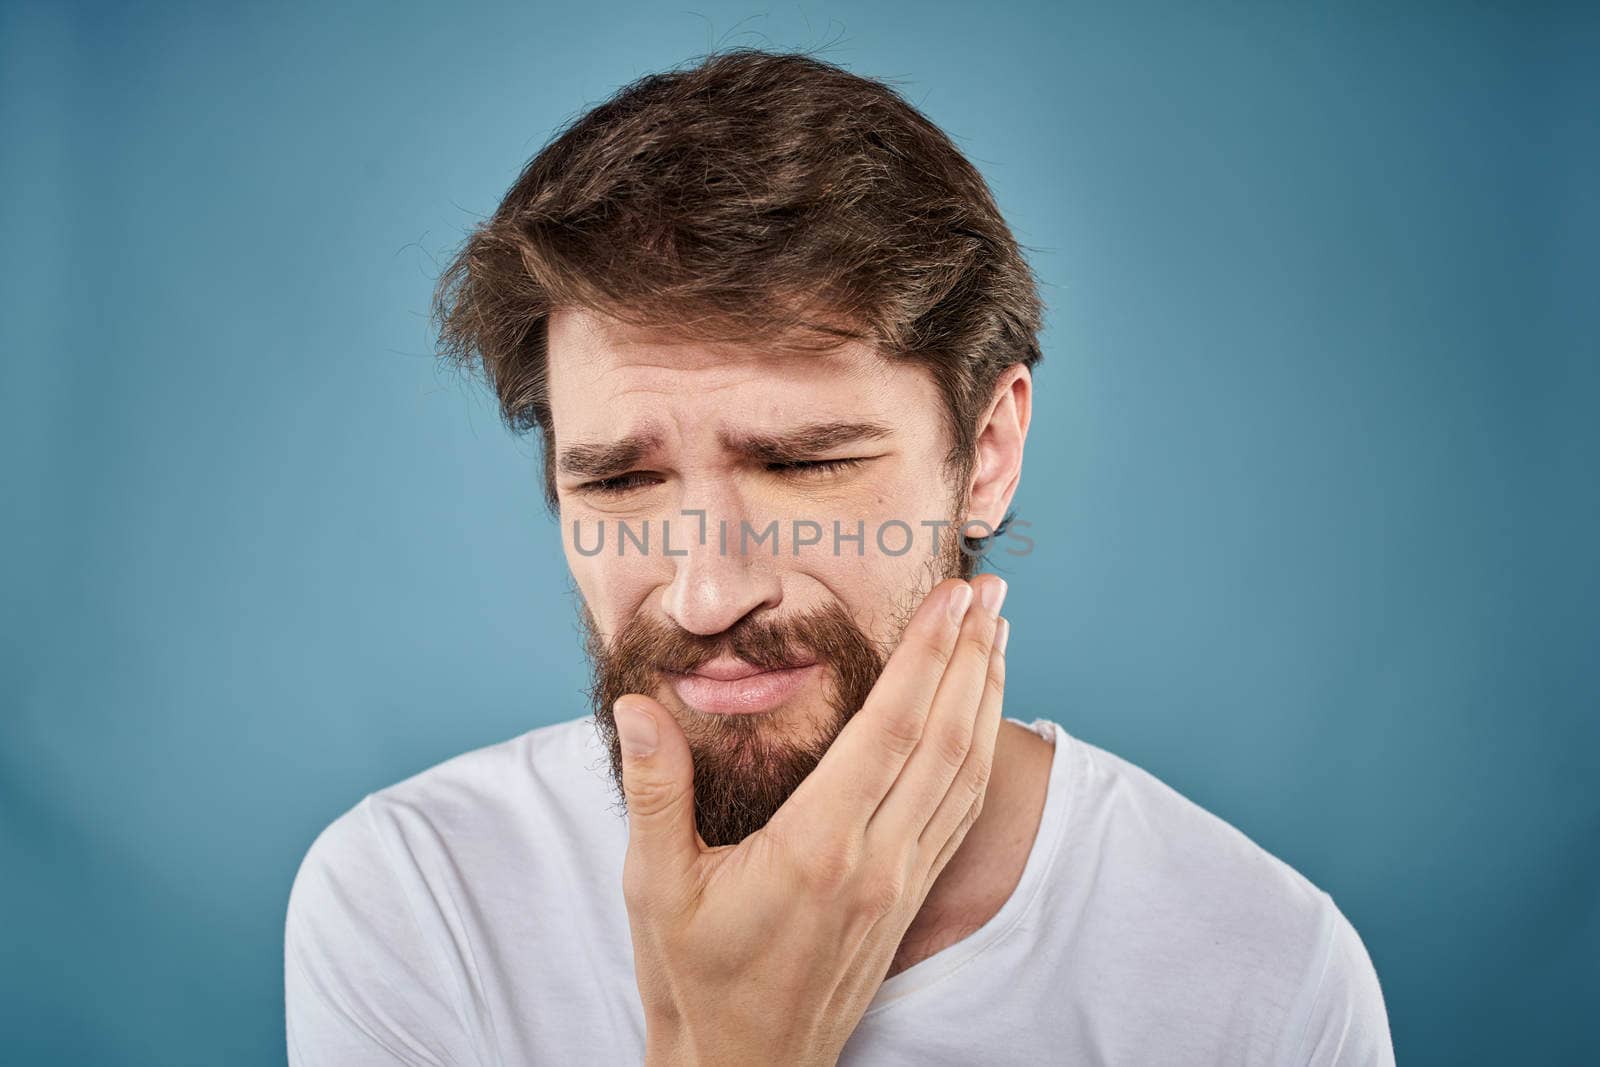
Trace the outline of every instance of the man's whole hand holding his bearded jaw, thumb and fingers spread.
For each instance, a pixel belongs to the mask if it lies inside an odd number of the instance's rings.
[[[1005,691],[1003,597],[990,574],[934,587],[866,705],[739,845],[707,848],[696,832],[672,715],[646,696],[616,702],[648,1064],[838,1059],[982,805]]]

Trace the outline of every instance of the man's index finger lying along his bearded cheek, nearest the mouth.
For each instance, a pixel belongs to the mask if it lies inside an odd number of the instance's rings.
[[[779,808],[774,830],[810,841],[859,840],[922,739],[971,601],[973,587],[960,579],[923,598],[866,704]]]

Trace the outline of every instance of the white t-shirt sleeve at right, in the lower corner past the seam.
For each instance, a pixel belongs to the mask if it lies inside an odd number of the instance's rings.
[[[1326,901],[1320,966],[1312,971],[1310,995],[1301,1025],[1299,1053],[1291,1064],[1309,1067],[1394,1067],[1389,1013],[1366,945]]]

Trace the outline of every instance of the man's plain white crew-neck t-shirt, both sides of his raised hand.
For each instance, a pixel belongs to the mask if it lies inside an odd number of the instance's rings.
[[[1016,891],[885,981],[840,1064],[1394,1062],[1325,893],[1139,768],[1030,728],[1054,757]],[[290,1062],[642,1062],[626,848],[592,718],[366,797],[294,880]]]

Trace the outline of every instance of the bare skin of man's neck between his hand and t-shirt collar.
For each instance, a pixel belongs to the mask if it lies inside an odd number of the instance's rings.
[[[974,933],[1011,897],[1045,813],[1053,755],[1035,731],[1000,721],[984,808],[901,937],[890,976]]]

